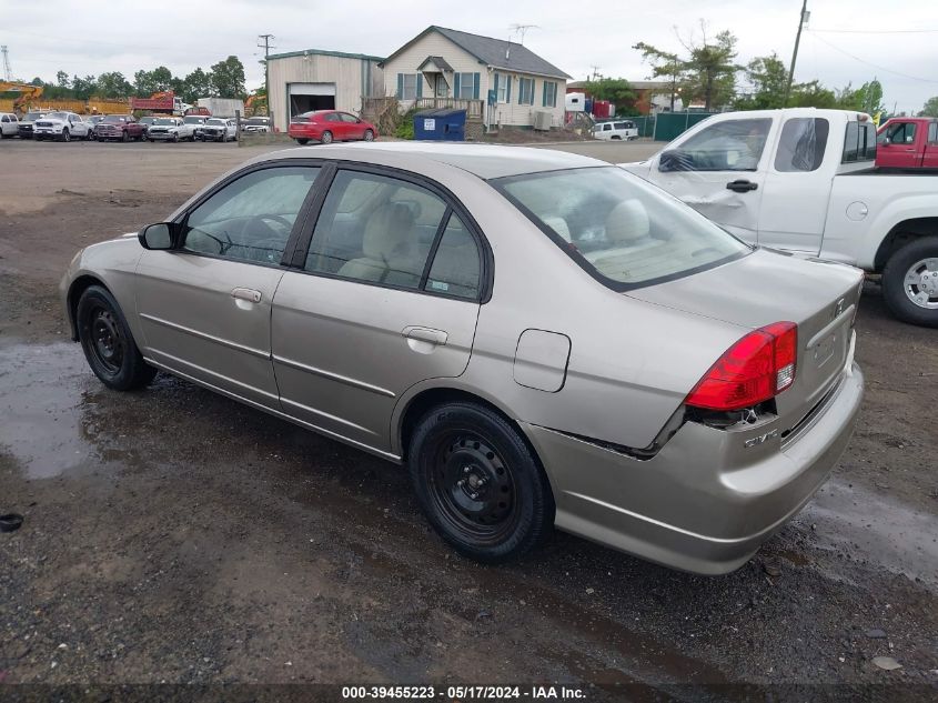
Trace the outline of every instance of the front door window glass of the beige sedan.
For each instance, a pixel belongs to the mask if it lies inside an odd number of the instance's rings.
[[[186,251],[280,263],[317,167],[274,167],[242,175],[189,213]]]

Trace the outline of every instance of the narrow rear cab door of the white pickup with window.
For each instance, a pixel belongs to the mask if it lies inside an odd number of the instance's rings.
[[[766,194],[758,213],[759,244],[818,254],[834,185],[821,167],[825,154],[837,153],[839,148],[839,133],[831,133],[826,118],[785,120],[763,181]]]

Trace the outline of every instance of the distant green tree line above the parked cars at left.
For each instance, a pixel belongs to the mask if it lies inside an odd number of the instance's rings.
[[[107,71],[100,76],[72,76],[65,71],[56,73],[56,82],[41,78],[30,81],[41,86],[46,98],[59,100],[88,100],[89,98],[149,98],[154,92],[173,91],[184,102],[194,103],[199,98],[246,97],[244,66],[238,57],[231,56],[213,63],[208,71],[196,68],[185,77],[174,77],[164,66],[151,71],[140,70],[128,80],[119,71]]]

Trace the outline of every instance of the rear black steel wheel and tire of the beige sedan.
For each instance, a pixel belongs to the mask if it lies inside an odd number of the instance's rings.
[[[452,402],[427,412],[411,436],[407,466],[430,523],[470,559],[516,559],[553,530],[554,499],[537,458],[488,408]]]

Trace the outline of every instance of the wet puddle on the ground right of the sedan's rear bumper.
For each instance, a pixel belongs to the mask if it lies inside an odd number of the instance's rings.
[[[815,524],[818,546],[870,560],[938,589],[938,516],[831,479],[799,522]]]

